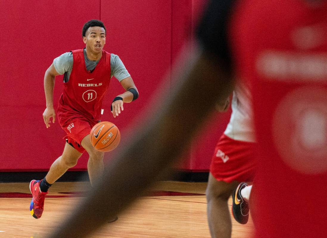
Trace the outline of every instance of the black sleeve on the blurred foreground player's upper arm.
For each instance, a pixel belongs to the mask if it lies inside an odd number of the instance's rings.
[[[197,39],[205,51],[223,61],[231,72],[232,59],[228,26],[236,0],[210,0],[197,29]]]

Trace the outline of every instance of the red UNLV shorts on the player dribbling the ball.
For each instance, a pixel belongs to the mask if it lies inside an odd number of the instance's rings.
[[[90,134],[91,128],[98,121],[82,117],[81,115],[71,115],[68,118],[60,118],[58,116],[58,118],[61,128],[67,133],[63,139],[78,152],[84,153],[85,149],[81,145],[81,142],[85,136]]]

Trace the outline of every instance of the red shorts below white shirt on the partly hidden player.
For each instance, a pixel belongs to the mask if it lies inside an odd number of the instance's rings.
[[[255,175],[256,143],[237,141],[223,134],[215,147],[210,173],[218,181],[250,182]]]

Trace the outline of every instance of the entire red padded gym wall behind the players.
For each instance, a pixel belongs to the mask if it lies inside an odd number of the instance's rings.
[[[124,105],[117,118],[110,113],[112,99],[123,92],[112,79],[104,100],[102,120],[115,123],[122,142],[132,125],[156,108],[150,104],[163,85],[174,86],[172,64],[184,42],[191,40],[202,0],[77,0],[28,2],[0,1],[0,22],[5,37],[0,38],[0,171],[47,171],[61,155],[65,133],[58,122],[46,129],[43,76],[52,60],[72,49],[84,47],[83,24],[100,19],[107,27],[105,50],[117,54],[140,92],[140,97]],[[62,91],[62,76],[56,77],[55,108]],[[227,123],[215,117],[192,144],[180,169],[207,171],[214,145]],[[87,168],[87,153],[72,170]]]

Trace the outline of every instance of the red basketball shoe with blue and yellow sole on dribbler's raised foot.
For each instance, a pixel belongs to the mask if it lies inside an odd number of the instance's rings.
[[[31,212],[31,215],[34,218],[39,219],[42,216],[43,206],[44,206],[44,198],[45,198],[45,195],[48,194],[48,192],[41,192],[40,180],[32,180],[29,183],[29,190],[31,191],[31,194],[33,195],[31,204],[29,206],[29,211]]]

